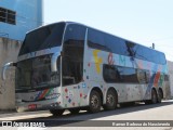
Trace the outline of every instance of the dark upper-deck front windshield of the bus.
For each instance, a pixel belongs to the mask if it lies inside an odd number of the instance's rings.
[[[19,55],[53,47],[59,47],[62,44],[64,27],[65,23],[58,23],[27,34],[19,51]]]

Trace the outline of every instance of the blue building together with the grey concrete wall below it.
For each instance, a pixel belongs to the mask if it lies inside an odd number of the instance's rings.
[[[0,73],[2,66],[16,61],[25,34],[42,25],[42,0],[0,0]],[[0,78],[0,109],[15,106],[14,73],[8,70],[8,80]]]

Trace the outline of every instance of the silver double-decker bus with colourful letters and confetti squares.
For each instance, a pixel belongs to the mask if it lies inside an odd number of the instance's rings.
[[[129,102],[160,103],[168,81],[162,52],[72,22],[26,35],[16,63],[16,108],[91,113]]]

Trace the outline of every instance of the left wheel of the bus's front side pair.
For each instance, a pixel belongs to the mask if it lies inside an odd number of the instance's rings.
[[[90,113],[97,113],[101,110],[101,95],[97,91],[92,91],[90,94],[90,105],[89,105],[89,112]]]

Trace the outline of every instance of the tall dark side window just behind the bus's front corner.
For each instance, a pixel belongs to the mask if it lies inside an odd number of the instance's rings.
[[[82,80],[85,27],[70,24],[65,32],[63,46],[63,84]]]

